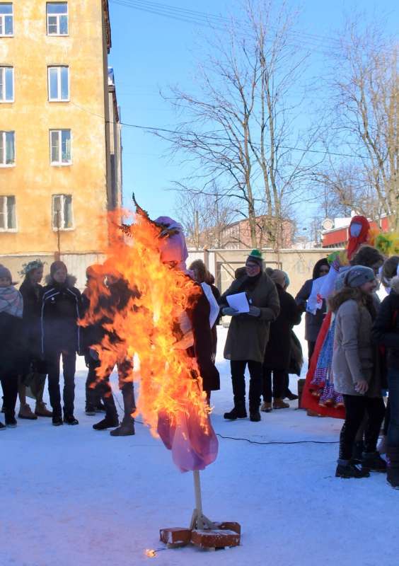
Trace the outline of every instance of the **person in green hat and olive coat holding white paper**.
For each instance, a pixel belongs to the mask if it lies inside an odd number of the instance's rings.
[[[270,323],[279,315],[277,289],[263,272],[262,254],[253,250],[245,263],[246,275],[236,279],[221,296],[222,314],[231,316],[224,347],[224,357],[230,360],[234,407],[224,414],[228,420],[247,417],[245,408],[245,367],[250,373],[250,420],[260,421],[260,395],[262,393],[262,363],[265,357]],[[245,293],[248,312],[229,306],[228,296]],[[245,301],[242,301],[245,304]],[[243,309],[240,309],[243,310]]]

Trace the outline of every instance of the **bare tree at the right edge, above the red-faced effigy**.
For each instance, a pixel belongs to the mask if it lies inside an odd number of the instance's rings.
[[[341,163],[321,176],[343,207],[374,218],[386,214],[397,230],[398,45],[384,35],[381,24],[362,29],[362,18],[355,16],[340,37],[334,73],[330,149],[334,144],[341,151],[348,148],[352,163]],[[340,172],[349,168],[351,173],[356,170],[356,178],[342,178]]]

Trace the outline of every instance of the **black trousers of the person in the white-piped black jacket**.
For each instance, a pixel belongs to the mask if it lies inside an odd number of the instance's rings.
[[[74,414],[76,352],[68,350],[52,350],[46,352],[47,372],[49,379],[50,404],[53,417],[61,417],[61,394],[59,391],[59,361],[62,357],[64,374],[64,416]]]

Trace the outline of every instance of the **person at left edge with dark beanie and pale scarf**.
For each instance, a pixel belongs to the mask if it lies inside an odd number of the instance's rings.
[[[6,427],[16,427],[18,375],[21,373],[23,299],[13,286],[10,271],[0,265],[0,381]],[[0,430],[4,429],[0,422]]]

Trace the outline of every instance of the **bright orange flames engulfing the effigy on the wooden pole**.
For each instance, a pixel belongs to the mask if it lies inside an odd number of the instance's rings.
[[[116,217],[120,214],[117,212]],[[181,331],[186,311],[195,305],[201,291],[185,273],[161,262],[161,229],[145,214],[134,216],[129,231],[129,238],[113,238],[108,260],[97,268],[98,278],[87,292],[90,307],[81,324],[103,320],[108,330],[103,341],[93,347],[100,358],[98,379],[116,361],[132,359],[136,354],[139,365],[132,379],[139,381],[140,387],[134,416],[141,414],[158,437],[158,415],[166,415],[173,426],[182,414],[195,412],[199,426],[207,432],[209,408],[204,402],[202,379],[195,358],[187,354]],[[107,301],[110,291],[104,277],[112,272],[117,277],[122,274],[132,291],[122,309]],[[110,339],[110,335],[117,335],[119,340]]]

